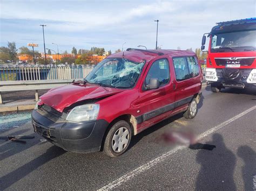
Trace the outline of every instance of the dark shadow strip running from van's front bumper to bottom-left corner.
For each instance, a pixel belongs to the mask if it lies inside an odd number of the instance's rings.
[[[41,156],[38,156],[36,159],[26,163],[25,165],[17,168],[16,170],[10,172],[9,174],[2,176],[2,178],[0,179],[1,190],[10,187],[15,182],[21,180],[24,176],[31,173],[33,170],[44,165],[44,163],[49,162],[54,158],[57,158],[58,156],[64,154],[65,152],[66,151],[57,146],[50,147]]]

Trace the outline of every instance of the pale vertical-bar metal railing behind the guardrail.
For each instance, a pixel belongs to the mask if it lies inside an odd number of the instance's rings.
[[[85,78],[95,65],[42,66],[0,65],[0,81],[64,80]]]

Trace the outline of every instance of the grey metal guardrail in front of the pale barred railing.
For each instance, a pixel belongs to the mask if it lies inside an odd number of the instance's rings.
[[[80,80],[80,79],[76,79]],[[0,104],[3,104],[1,92],[35,90],[35,98],[38,101],[38,90],[46,90],[54,87],[70,84],[73,80],[31,80],[31,81],[0,81]]]

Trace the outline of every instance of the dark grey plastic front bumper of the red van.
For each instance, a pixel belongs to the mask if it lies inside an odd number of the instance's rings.
[[[32,111],[32,124],[34,131],[53,145],[75,153],[100,151],[105,131],[109,126],[109,123],[103,119],[55,122],[36,110]]]

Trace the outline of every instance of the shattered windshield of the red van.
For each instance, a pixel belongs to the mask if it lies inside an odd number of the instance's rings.
[[[145,62],[126,58],[106,58],[85,78],[88,83],[115,88],[131,88],[136,84]]]

